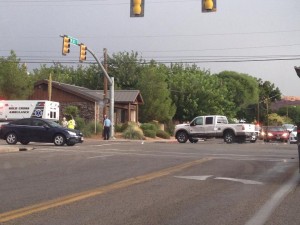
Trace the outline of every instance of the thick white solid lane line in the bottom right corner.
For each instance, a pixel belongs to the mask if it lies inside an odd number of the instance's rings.
[[[298,170],[292,176],[292,178],[285,183],[281,188],[275,192],[272,197],[260,208],[255,215],[248,220],[245,225],[263,225],[270,218],[274,210],[280,205],[288,193],[297,187],[299,183]]]

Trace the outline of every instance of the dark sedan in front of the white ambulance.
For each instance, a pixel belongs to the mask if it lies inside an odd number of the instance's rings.
[[[2,125],[0,138],[10,145],[17,142],[23,145],[45,142],[73,146],[83,142],[83,135],[79,130],[64,128],[52,120],[39,118],[20,119]]]

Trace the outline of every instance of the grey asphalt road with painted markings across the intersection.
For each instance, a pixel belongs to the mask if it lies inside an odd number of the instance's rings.
[[[26,147],[0,153],[0,224],[300,221],[296,145],[87,140]]]

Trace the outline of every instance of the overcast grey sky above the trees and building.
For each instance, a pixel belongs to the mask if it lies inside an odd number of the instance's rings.
[[[300,96],[300,0],[217,0],[217,12],[201,8],[201,0],[145,0],[145,16],[130,18],[130,0],[0,0],[0,56],[14,50],[30,70],[53,61],[76,66],[78,46],[61,55],[67,34],[100,59],[103,48],[134,51],[145,60],[249,74]],[[87,62],[94,62],[89,54]]]

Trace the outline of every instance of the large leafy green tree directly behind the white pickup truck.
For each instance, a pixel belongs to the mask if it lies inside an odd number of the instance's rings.
[[[177,106],[174,119],[189,121],[198,115],[235,115],[235,106],[227,98],[227,87],[209,71],[200,70],[195,65],[183,67],[175,64],[171,66],[169,82]]]

